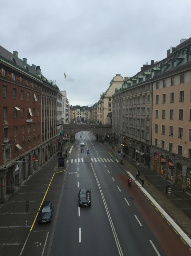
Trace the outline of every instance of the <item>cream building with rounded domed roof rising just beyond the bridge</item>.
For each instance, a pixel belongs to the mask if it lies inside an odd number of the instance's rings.
[[[118,91],[124,82],[123,77],[117,74],[110,82],[107,91],[100,95],[97,108],[97,120],[102,124],[108,123],[108,113],[112,112],[112,95]]]

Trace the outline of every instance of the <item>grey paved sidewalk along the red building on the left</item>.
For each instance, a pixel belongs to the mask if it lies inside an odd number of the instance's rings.
[[[64,145],[62,152],[65,153],[68,147],[68,152],[71,146],[75,143]],[[69,153],[67,154],[69,158]],[[25,180],[18,188],[18,191],[10,200],[2,204],[0,207],[0,255],[19,255],[26,237],[29,233],[30,227],[37,214],[39,206],[42,202],[44,194],[50,184],[53,173],[67,169],[67,159],[65,167],[58,168],[58,156],[54,154],[48,161],[38,168],[29,179]],[[55,186],[53,190],[49,189],[48,200],[54,203],[54,209],[57,208],[57,201],[60,195],[60,188],[62,187],[65,172],[58,176],[54,176],[52,184]],[[29,212],[27,213],[27,231],[25,231],[26,213],[25,204],[29,201]],[[46,198],[47,200],[47,198]]]

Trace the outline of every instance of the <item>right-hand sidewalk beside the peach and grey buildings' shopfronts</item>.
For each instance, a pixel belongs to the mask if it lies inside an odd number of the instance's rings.
[[[102,143],[100,144],[115,157],[115,151],[112,151],[113,145],[108,146],[107,142],[104,145]],[[123,155],[124,153],[120,155],[120,158]],[[125,173],[126,171],[130,171],[135,177],[137,174],[136,161],[127,155],[125,156],[125,160],[123,160],[124,165],[120,165],[120,167]],[[116,151],[115,159],[119,161],[118,151]],[[144,179],[144,188],[147,192],[161,205],[170,217],[184,229],[189,238],[191,238],[191,196],[181,191],[174,184],[171,184],[171,195],[166,195],[166,186],[169,184],[168,180],[163,179],[161,176],[142,165],[140,165],[138,169],[140,171],[140,178]]]

